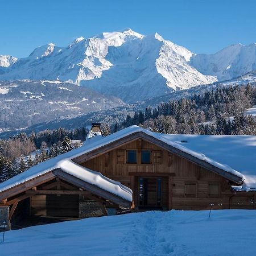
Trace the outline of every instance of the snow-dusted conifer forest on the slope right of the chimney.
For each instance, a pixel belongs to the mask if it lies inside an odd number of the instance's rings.
[[[255,104],[256,89],[250,85],[218,88],[127,115],[114,130],[139,125],[159,133],[255,135],[254,118],[243,114]]]

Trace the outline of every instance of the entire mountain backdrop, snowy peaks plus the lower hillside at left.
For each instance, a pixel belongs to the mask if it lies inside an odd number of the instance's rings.
[[[0,55],[0,131],[43,129],[80,116],[101,121],[101,113],[127,113],[166,96],[253,84],[255,70],[255,43],[196,54],[130,28],[77,38],[67,47],[49,43],[20,59]]]

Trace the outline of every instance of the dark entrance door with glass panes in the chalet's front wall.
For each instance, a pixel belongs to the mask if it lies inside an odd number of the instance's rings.
[[[162,178],[139,177],[139,206],[160,207],[162,201]]]

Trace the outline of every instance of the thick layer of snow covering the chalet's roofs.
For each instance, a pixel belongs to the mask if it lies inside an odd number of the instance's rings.
[[[159,139],[197,159],[204,160],[221,170],[230,172],[241,177],[241,179],[245,179],[243,189],[256,189],[256,136],[172,135],[153,133],[138,126],[130,126],[107,137],[96,136],[87,139],[83,146],[65,154],[58,155],[55,158],[49,159],[46,162],[40,163],[37,166],[22,172],[22,174],[6,180],[0,184],[0,192],[36,176],[43,175],[56,168],[61,168],[61,170],[68,174],[79,177],[90,184],[97,185],[114,195],[118,195],[123,199],[131,201],[133,192],[130,188],[103,176],[100,172],[95,172],[82,167],[79,164],[74,163],[72,159],[117,141],[127,135],[138,132],[150,135],[151,137]],[[237,170],[239,170],[239,172]]]

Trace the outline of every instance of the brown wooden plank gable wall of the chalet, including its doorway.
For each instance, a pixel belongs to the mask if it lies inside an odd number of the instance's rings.
[[[136,163],[128,162],[129,151],[136,152]],[[142,163],[143,151],[150,152],[149,163]],[[255,209],[254,192],[232,191],[233,180],[145,138],[119,142],[77,162],[130,187],[135,209],[200,210],[211,204],[213,209]]]

